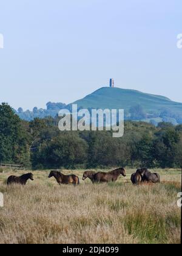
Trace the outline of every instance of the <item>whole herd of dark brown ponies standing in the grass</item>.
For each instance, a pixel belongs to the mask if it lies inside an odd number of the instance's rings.
[[[89,178],[92,183],[103,183],[103,182],[115,182],[119,176],[126,177],[126,171],[124,168],[114,169],[110,172],[94,172],[94,171],[85,171],[83,174],[83,180]],[[58,184],[73,184],[79,185],[79,177],[75,174],[64,175],[60,171],[54,170],[50,171],[49,178],[55,177]],[[31,172],[23,174],[20,177],[10,176],[7,179],[7,185],[12,183],[19,183],[25,185],[27,180],[33,180],[33,174]],[[139,185],[143,182],[160,182],[160,176],[157,172],[151,173],[147,168],[137,169],[135,173],[131,176],[131,181],[134,185]]]

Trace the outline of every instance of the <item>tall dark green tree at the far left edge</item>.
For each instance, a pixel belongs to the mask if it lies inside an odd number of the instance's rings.
[[[0,105],[0,162],[29,165],[29,134],[5,103]]]

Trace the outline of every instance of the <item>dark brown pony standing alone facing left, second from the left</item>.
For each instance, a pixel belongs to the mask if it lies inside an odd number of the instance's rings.
[[[49,174],[49,178],[55,177],[57,182],[60,184],[73,184],[73,185],[79,185],[79,178],[78,176],[71,174],[71,175],[64,175],[59,171],[51,171]]]

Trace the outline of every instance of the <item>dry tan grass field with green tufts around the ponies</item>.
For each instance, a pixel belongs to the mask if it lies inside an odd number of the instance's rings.
[[[59,186],[49,171],[7,187],[8,176],[23,172],[1,172],[0,243],[180,243],[181,171],[152,170],[161,183],[138,187],[130,182],[134,170],[126,171],[115,183],[92,185],[83,171],[62,170],[79,176],[78,187]]]

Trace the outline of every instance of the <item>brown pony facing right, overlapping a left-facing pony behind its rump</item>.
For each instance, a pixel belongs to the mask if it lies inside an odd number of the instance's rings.
[[[115,182],[120,175],[126,177],[124,168],[118,168],[110,172],[97,172],[94,176],[94,182]]]

